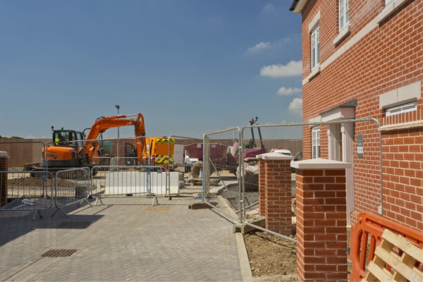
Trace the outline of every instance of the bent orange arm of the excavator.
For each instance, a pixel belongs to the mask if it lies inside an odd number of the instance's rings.
[[[142,151],[145,147],[145,124],[144,116],[137,114],[137,118],[130,118],[135,115],[120,115],[120,116],[106,116],[97,118],[97,121],[91,126],[90,133],[88,133],[82,154],[88,157],[89,160],[97,154],[99,149],[99,142],[95,141],[100,134],[109,128],[118,128],[122,126],[133,125],[135,128],[135,137],[137,137],[137,154],[138,161],[142,159]]]

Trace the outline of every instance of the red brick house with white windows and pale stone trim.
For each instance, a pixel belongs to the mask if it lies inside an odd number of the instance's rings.
[[[303,121],[381,123],[306,127],[304,158],[353,164],[351,223],[382,212],[422,231],[423,0],[294,0],[290,11],[302,15]]]

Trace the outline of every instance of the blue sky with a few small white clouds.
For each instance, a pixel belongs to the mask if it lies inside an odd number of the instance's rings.
[[[115,104],[142,113],[149,136],[300,122],[290,2],[0,1],[0,135],[83,130]]]

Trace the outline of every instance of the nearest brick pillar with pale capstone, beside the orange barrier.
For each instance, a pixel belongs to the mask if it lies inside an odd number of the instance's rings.
[[[298,281],[347,281],[345,168],[326,159],[296,161]]]

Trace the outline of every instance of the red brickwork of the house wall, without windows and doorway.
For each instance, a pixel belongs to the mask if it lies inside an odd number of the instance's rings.
[[[302,8],[302,117],[309,122],[321,113],[356,99],[355,118],[373,117],[382,128],[383,215],[423,230],[423,1],[401,4],[380,23],[385,1],[349,0],[350,33],[338,43],[338,1],[309,0]],[[321,71],[311,69],[309,24],[319,18]],[[417,111],[386,116],[380,97],[408,85],[417,90]],[[399,104],[399,103],[398,103]],[[407,125],[407,124],[414,125]],[[398,127],[396,127],[398,125]],[[391,127],[391,128],[389,128]],[[321,157],[328,159],[328,126],[321,125]],[[304,159],[312,158],[311,128],[305,127]],[[357,135],[365,140],[357,157]],[[352,223],[363,211],[378,213],[379,131],[376,123],[355,123],[354,208]]]

